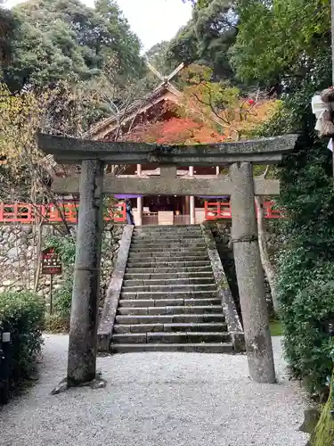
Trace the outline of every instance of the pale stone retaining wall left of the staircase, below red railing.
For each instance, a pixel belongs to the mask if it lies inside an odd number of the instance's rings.
[[[76,227],[72,227],[74,230]],[[42,238],[52,234],[52,226],[42,227]],[[102,288],[108,288],[114,267],[123,225],[105,227],[102,242]],[[37,271],[39,236],[31,225],[6,224],[0,226],[0,293],[34,289]],[[53,289],[61,287],[61,276],[53,277]],[[49,293],[50,277],[41,276],[37,293]]]

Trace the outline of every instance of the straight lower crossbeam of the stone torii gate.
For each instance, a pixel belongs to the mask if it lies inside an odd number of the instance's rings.
[[[276,179],[255,179],[256,195],[279,195],[280,182]],[[105,194],[141,194],[141,195],[195,195],[223,196],[231,195],[233,186],[227,176],[215,178],[118,178],[104,176]],[[53,178],[55,194],[78,194],[79,178]]]

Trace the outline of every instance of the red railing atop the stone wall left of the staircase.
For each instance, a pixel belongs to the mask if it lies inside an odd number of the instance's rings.
[[[0,202],[0,223],[77,223],[78,205],[75,202],[55,204],[30,204],[15,202],[4,204]],[[108,208],[105,221],[126,222],[126,203]]]

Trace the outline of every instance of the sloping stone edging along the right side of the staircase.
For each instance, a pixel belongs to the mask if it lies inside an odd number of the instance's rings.
[[[200,227],[207,245],[208,257],[211,261],[219,297],[222,301],[228,332],[232,338],[233,349],[234,351],[245,351],[245,335],[243,333],[238,311],[235,307],[232,293],[224,273],[222,261],[220,260],[216,249],[214,236],[212,235],[211,230],[204,225],[200,225]]]

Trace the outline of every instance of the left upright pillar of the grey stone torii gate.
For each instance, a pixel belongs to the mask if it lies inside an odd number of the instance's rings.
[[[70,315],[68,385],[96,374],[98,299],[103,230],[103,162],[82,161],[77,249]]]

